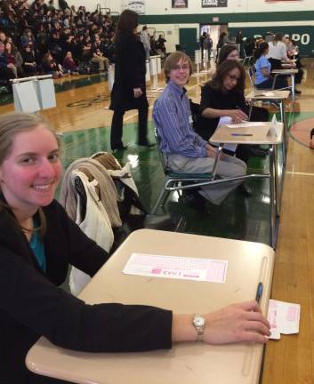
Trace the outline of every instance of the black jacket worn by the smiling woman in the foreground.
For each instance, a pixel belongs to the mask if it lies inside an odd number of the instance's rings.
[[[93,276],[109,255],[56,201],[44,207],[44,214],[45,272],[12,213],[1,209],[0,383],[56,382],[25,366],[28,349],[41,335],[61,348],[89,352],[171,348],[172,312],[118,303],[85,305],[58,288],[68,264]]]

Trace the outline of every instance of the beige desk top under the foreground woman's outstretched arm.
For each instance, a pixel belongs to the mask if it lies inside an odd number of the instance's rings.
[[[125,275],[133,252],[228,260],[226,282]],[[269,245],[141,229],[133,232],[86,285],[80,298],[88,303],[149,304],[176,313],[204,313],[232,302],[252,300],[263,283],[263,313],[270,298],[274,252]],[[95,330],[97,332],[97,330]],[[28,369],[76,383],[255,384],[262,346],[178,343],[171,350],[92,354],[57,348],[41,338],[27,356]]]

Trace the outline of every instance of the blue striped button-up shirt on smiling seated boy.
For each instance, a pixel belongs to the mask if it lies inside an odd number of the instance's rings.
[[[160,150],[167,154],[206,157],[203,140],[192,129],[189,99],[185,89],[169,81],[155,101],[153,119],[160,137]]]

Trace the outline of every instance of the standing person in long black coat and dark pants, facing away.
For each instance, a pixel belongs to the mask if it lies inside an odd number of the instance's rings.
[[[151,147],[147,140],[149,102],[145,84],[145,50],[136,37],[138,14],[131,10],[121,13],[115,36],[115,83],[111,92],[110,109],[114,111],[111,122],[111,149],[125,149],[122,142],[125,111],[138,109],[138,144]]]

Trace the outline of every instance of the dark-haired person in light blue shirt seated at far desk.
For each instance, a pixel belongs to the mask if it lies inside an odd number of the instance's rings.
[[[270,89],[273,84],[273,77],[270,73],[270,60],[267,59],[269,44],[263,42],[259,44],[254,52],[255,86],[258,89]],[[275,89],[286,88],[288,86],[286,77],[277,76]]]

